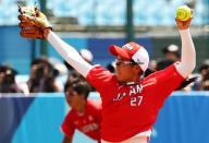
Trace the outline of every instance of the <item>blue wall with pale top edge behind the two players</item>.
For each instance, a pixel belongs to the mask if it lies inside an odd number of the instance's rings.
[[[100,99],[97,93],[91,99]],[[60,143],[64,95],[0,94],[0,143]],[[209,92],[175,92],[159,112],[150,143],[208,143]],[[128,123],[128,122],[127,122]],[[74,143],[95,143],[79,132]]]

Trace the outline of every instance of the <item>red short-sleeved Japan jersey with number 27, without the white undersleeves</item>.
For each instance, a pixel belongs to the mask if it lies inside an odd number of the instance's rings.
[[[87,80],[102,99],[101,139],[121,142],[151,130],[164,99],[184,78],[173,64],[145,78],[139,84],[123,85],[114,74],[97,65]]]

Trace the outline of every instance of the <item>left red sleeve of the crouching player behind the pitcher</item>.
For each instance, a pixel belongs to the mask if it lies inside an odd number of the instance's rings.
[[[62,126],[61,126],[61,130],[66,136],[73,136],[75,127],[73,126],[73,121],[70,112],[64,118],[64,121],[62,122]]]

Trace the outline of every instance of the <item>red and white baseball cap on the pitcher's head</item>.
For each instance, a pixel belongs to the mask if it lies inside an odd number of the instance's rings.
[[[139,64],[144,72],[148,68],[149,55],[143,46],[136,43],[125,44],[122,48],[116,45],[111,45],[109,47],[109,51],[113,56],[121,56],[127,60],[134,60]]]

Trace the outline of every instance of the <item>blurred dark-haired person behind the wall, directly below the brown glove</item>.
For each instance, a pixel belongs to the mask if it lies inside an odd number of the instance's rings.
[[[35,59],[30,64],[30,76],[26,83],[29,93],[61,92],[61,86],[56,82],[58,74],[59,71],[47,59]]]

